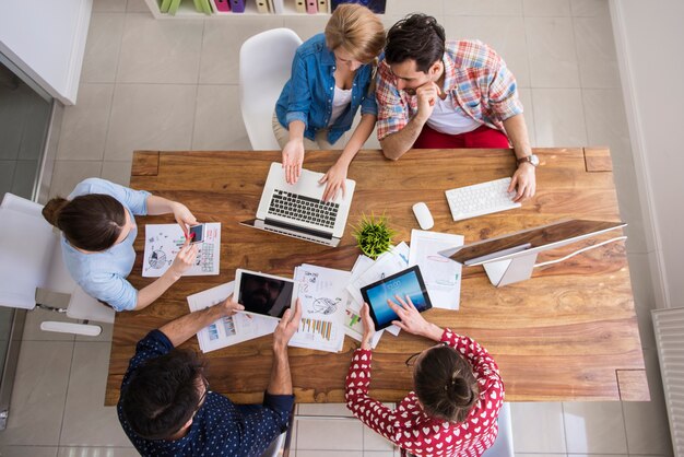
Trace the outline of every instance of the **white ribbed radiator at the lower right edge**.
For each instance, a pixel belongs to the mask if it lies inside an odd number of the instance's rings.
[[[684,456],[684,308],[654,309],[653,330],[675,456]]]

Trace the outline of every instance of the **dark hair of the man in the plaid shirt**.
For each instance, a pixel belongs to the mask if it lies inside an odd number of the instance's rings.
[[[433,63],[441,60],[445,40],[444,27],[435,17],[414,13],[392,25],[387,33],[385,59],[390,65],[412,59],[416,70],[427,73]]]

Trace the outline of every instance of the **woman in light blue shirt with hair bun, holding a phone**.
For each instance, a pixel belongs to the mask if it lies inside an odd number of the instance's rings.
[[[185,204],[99,178],[81,181],[68,199],[54,198],[43,216],[62,233],[61,247],[73,280],[116,310],[142,309],[172,286],[197,257],[189,239],[162,277],[140,291],[126,278],[135,261],[134,215],[173,213],[187,237],[197,220]]]

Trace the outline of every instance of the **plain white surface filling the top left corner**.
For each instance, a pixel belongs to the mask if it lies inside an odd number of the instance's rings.
[[[0,0],[0,52],[64,104],[75,103],[93,0]]]

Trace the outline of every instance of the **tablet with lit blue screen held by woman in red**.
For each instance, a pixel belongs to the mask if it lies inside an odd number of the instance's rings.
[[[361,294],[370,307],[370,317],[376,330],[391,326],[392,320],[399,320],[397,313],[387,304],[388,298],[397,303],[394,295],[403,300],[409,295],[420,313],[433,307],[417,265],[362,288]]]

